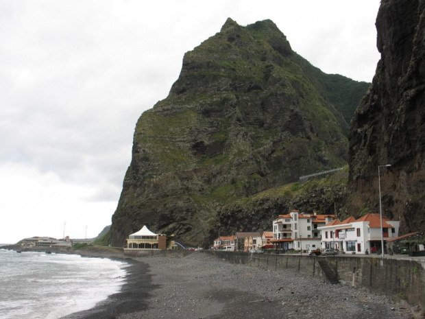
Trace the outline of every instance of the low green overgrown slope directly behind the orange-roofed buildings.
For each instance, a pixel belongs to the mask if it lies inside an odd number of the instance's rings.
[[[272,220],[291,209],[305,213],[337,214],[344,218],[345,201],[348,198],[348,166],[324,178],[305,183],[267,189],[248,198],[241,198],[222,206],[212,222],[204,246],[208,247],[218,234],[234,234],[236,231],[271,231]]]

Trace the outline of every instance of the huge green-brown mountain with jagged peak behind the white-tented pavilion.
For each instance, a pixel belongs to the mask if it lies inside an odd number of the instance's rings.
[[[138,119],[114,245],[144,224],[199,244],[221,207],[345,165],[368,86],[313,67],[272,21],[228,19]]]

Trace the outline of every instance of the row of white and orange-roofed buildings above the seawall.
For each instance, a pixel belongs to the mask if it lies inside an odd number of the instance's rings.
[[[272,231],[236,232],[234,235],[220,236],[214,241],[213,249],[245,252],[324,252],[334,254],[369,254],[381,252],[384,242],[385,252],[406,252],[408,238],[418,233],[398,237],[398,221],[383,217],[382,236],[380,235],[380,215],[368,213],[355,219],[348,217],[340,221],[332,214],[300,213],[292,210],[286,215],[278,215],[273,220]],[[398,241],[404,242],[397,245]],[[409,247],[409,250],[412,249]],[[424,250],[419,245],[415,250]],[[396,250],[396,251],[394,251]]]

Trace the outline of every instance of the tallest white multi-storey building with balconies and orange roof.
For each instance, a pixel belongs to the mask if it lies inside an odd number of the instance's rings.
[[[278,215],[273,221],[273,239],[270,240],[278,250],[308,250],[321,245],[320,226],[331,222],[332,214],[300,213],[293,209],[288,214]]]

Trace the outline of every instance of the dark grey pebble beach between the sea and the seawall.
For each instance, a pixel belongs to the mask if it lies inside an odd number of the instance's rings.
[[[127,259],[119,251],[86,257],[130,263],[120,293],[66,319],[119,318],[422,318],[388,296],[330,285],[296,270],[263,270],[202,252]]]

